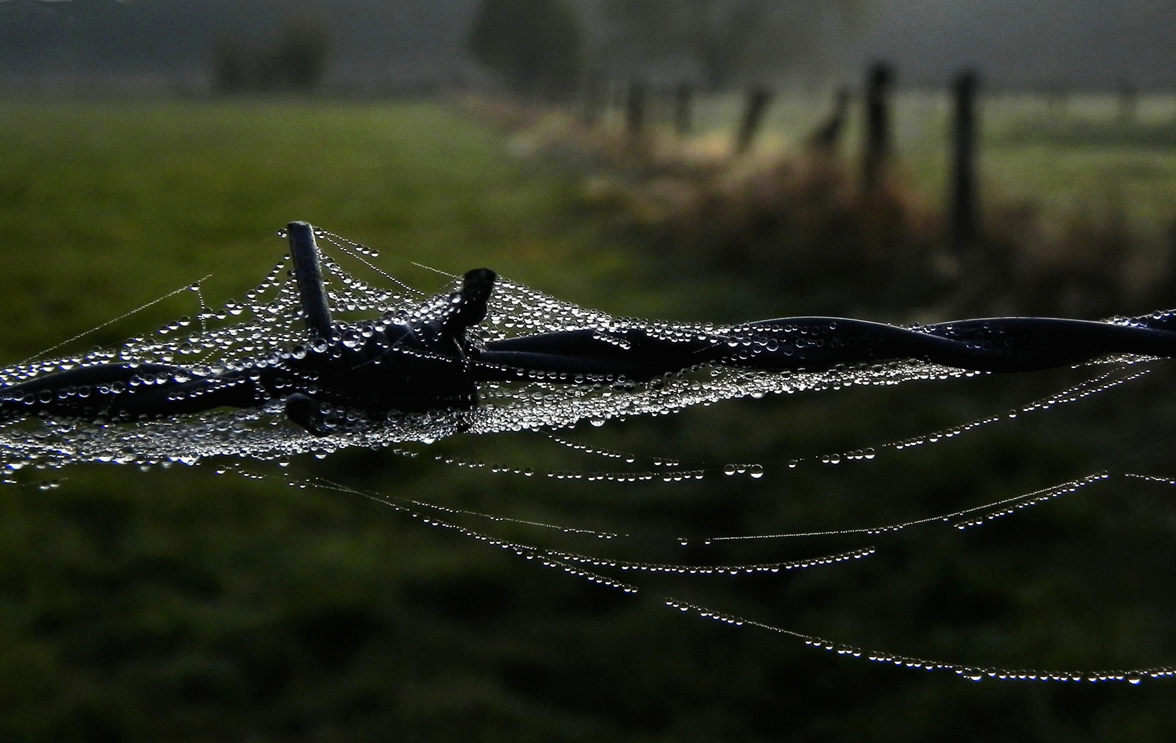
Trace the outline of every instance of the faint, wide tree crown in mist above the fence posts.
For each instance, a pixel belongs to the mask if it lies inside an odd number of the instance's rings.
[[[602,0],[610,43],[694,66],[711,89],[780,72],[854,27],[869,0]]]

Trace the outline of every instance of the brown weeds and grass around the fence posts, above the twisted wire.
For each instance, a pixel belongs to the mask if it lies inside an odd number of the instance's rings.
[[[602,126],[533,112],[515,126],[530,149],[593,161],[586,198],[622,214],[700,297],[719,299],[709,317],[728,319],[731,297],[743,301],[736,316],[900,322],[1097,319],[1176,301],[1176,99],[1116,111],[1111,96],[983,96],[978,239],[963,247],[947,235],[948,99],[894,96],[894,158],[869,199],[860,101],[836,145],[809,140],[831,100],[780,92],[747,153],[731,150],[737,95],[700,99],[686,136],[671,130],[664,95],[639,139],[615,106],[597,112]]]

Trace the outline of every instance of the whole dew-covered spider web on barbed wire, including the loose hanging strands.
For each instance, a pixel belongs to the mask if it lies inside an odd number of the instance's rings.
[[[329,254],[322,256],[327,302],[333,314],[360,314],[367,316],[394,315],[413,313],[421,306],[423,294],[413,289],[395,277],[388,275],[368,259],[375,257],[375,252],[342,237],[316,230],[315,236],[329,243],[340,254],[356,260],[373,269],[387,281],[389,288],[379,288],[363,282],[347,273]],[[199,289],[194,285],[194,289]],[[174,294],[174,293],[173,293]],[[146,307],[146,306],[145,306]],[[601,340],[623,344],[626,341],[616,333],[619,327],[639,327],[653,337],[682,339],[691,335],[711,335],[724,328],[711,324],[670,323],[640,321],[633,319],[616,320],[604,313],[576,307],[562,302],[526,286],[499,280],[488,304],[485,322],[470,329],[481,342],[497,341],[537,333],[559,330],[592,330]],[[343,337],[362,343],[373,329],[373,322],[358,322],[349,326],[348,333],[354,337]],[[42,374],[68,370],[80,366],[99,363],[126,364],[171,364],[188,369],[185,374],[211,376],[235,369],[256,368],[267,363],[278,364],[283,355],[305,354],[306,346],[316,340],[307,333],[301,322],[300,296],[293,279],[289,256],[283,257],[265,280],[253,290],[246,293],[243,301],[229,302],[219,310],[208,310],[201,297],[201,312],[195,320],[183,317],[166,323],[151,335],[133,337],[120,347],[96,349],[82,355],[58,357],[47,361],[22,362],[0,369],[0,383],[15,384]],[[321,341],[320,341],[321,342]],[[769,336],[740,341],[750,347],[762,343],[770,348],[774,339]],[[741,349],[735,348],[734,353]],[[901,450],[904,448],[936,443],[941,440],[963,435],[976,428],[989,426],[1017,414],[1048,409],[1056,404],[1074,402],[1112,387],[1127,383],[1147,374],[1150,369],[1124,369],[1127,364],[1148,361],[1141,356],[1117,356],[1098,360],[1100,363],[1115,364],[1108,373],[1081,382],[1047,399],[1022,406],[1005,415],[993,415],[977,419],[969,423],[933,431],[924,436],[881,443],[874,448],[849,453],[828,454],[804,460],[791,460],[788,467],[802,463],[822,462],[835,464],[841,461],[870,461],[880,451]],[[403,444],[432,443],[455,433],[493,434],[503,431],[544,431],[556,443],[584,454],[612,460],[615,463],[637,464],[639,460],[654,467],[654,470],[633,471],[628,469],[607,473],[564,473],[548,471],[553,478],[584,478],[589,481],[643,482],[663,481],[680,482],[702,478],[706,475],[722,471],[726,475],[747,474],[761,476],[761,464],[723,464],[706,462],[682,463],[667,457],[641,457],[635,454],[596,449],[587,444],[566,439],[561,429],[574,427],[582,421],[601,426],[609,419],[623,419],[642,415],[666,415],[677,413],[693,406],[706,406],[723,400],[737,397],[762,397],[767,394],[793,394],[806,390],[840,389],[849,386],[897,384],[913,380],[950,379],[976,376],[980,373],[964,372],[949,367],[918,361],[890,361],[884,363],[860,364],[849,368],[835,368],[824,372],[764,372],[739,369],[723,366],[706,366],[667,375],[649,382],[627,382],[623,379],[604,380],[600,383],[583,383],[583,380],[568,379],[552,372],[530,372],[524,379],[510,382],[483,382],[480,384],[480,404],[472,410],[433,410],[419,414],[394,414],[387,421],[372,422],[360,416],[349,417],[340,430],[325,436],[313,436],[302,428],[292,424],[283,414],[281,401],[256,409],[229,410],[215,409],[169,420],[145,420],[134,424],[107,424],[102,421],[79,421],[74,419],[40,415],[32,419],[16,419],[0,423],[0,464],[4,466],[5,481],[15,483],[14,473],[24,467],[36,469],[59,469],[69,464],[83,462],[113,462],[141,467],[152,464],[196,464],[207,457],[230,457],[236,460],[278,460],[283,464],[296,455],[329,455],[347,447],[388,448],[408,456],[419,453],[401,448]],[[162,382],[152,376],[131,383],[153,384]],[[185,381],[171,375],[167,381]],[[569,383],[572,382],[572,383]],[[68,388],[59,394],[85,396],[85,389]],[[450,464],[487,468],[497,473],[530,476],[534,473],[527,468],[503,464],[487,466],[483,462],[469,462],[455,457],[439,455],[436,458]],[[249,473],[241,464],[232,469],[250,477],[272,477]],[[1142,477],[1140,475],[1128,475]],[[1011,515],[1017,510],[1076,491],[1090,484],[1110,477],[1098,473],[1075,481],[1061,483],[1015,497],[980,507],[968,508],[949,514],[909,520],[893,524],[876,524],[861,528],[829,529],[807,533],[766,534],[766,535],[715,535],[704,542],[803,538],[811,536],[875,536],[921,526],[944,524],[958,529],[982,526],[994,518]],[[1152,478],[1161,481],[1162,478]],[[600,583],[628,593],[636,587],[616,578],[599,574],[600,570],[621,570],[624,573],[671,573],[688,575],[739,575],[750,573],[777,573],[781,570],[804,569],[816,565],[836,564],[847,560],[861,560],[875,553],[874,545],[861,545],[836,554],[801,560],[759,562],[746,564],[684,565],[675,563],[648,563],[623,561],[593,555],[582,555],[563,550],[541,549],[514,541],[500,540],[492,535],[475,531],[457,523],[439,518],[437,513],[450,516],[479,517],[490,522],[513,521],[517,524],[559,529],[563,533],[593,534],[601,538],[644,538],[637,535],[616,535],[596,533],[590,529],[556,527],[554,524],[507,520],[488,514],[460,511],[433,506],[426,502],[395,498],[377,493],[355,490],[336,483],[321,481],[310,476],[290,484],[300,487],[318,487],[333,490],[355,493],[377,500],[399,511],[407,513],[435,527],[454,529],[457,533],[488,542],[510,550],[528,560],[539,560],[548,567],[566,570]],[[589,569],[590,568],[590,569]],[[913,657],[895,656],[884,652],[863,654],[850,647],[831,643],[814,636],[786,630],[769,624],[742,620],[722,613],[666,596],[667,605],[683,611],[696,611],[707,618],[731,623],[760,627],[804,641],[807,644],[835,650],[842,655],[866,656],[870,660],[897,663],[910,668],[928,670],[951,670],[969,678],[1035,678],[1071,681],[1087,678],[1090,681],[1130,681],[1137,683],[1144,675],[1163,677],[1174,675],[1170,668],[1157,668],[1134,671],[1071,672],[1071,671],[1008,671],[997,669],[974,669],[953,663],[926,661]]]

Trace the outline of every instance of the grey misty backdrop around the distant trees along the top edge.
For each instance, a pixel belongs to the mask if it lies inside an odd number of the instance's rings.
[[[321,19],[336,42],[326,85],[396,91],[453,87],[480,80],[468,38],[476,0],[6,0],[0,2],[0,76],[154,75],[155,85],[207,85],[218,39],[261,39],[292,14]],[[588,66],[613,76],[697,76],[689,63],[616,53],[607,0],[579,0]],[[647,4],[654,6],[656,4]],[[814,4],[828,6],[831,4]],[[901,85],[941,87],[958,67],[983,69],[993,88],[1064,87],[1143,91],[1176,86],[1176,6],[1164,0],[869,0],[850,4],[846,33],[789,54],[796,38],[775,43],[790,60],[767,76],[808,81],[856,79],[870,59],[901,71]],[[813,21],[809,20],[809,24]],[[811,36],[810,28],[806,34]],[[817,31],[821,31],[817,22]],[[824,28],[828,31],[828,28]],[[756,73],[766,76],[764,73]],[[142,80],[147,85],[146,80]]]

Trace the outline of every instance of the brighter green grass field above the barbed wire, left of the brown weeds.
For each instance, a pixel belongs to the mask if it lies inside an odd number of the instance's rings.
[[[7,102],[0,126],[8,359],[206,274],[211,301],[240,295],[294,219],[380,246],[385,267],[432,286],[413,261],[643,303],[596,226],[564,219],[574,180],[505,156],[492,130],[436,106]]]

